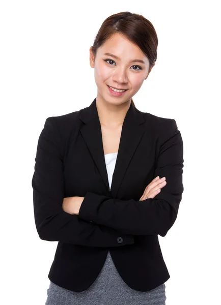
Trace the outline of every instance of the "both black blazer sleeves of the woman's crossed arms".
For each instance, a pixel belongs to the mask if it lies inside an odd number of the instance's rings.
[[[167,186],[155,198],[120,200],[87,192],[85,197],[78,197],[82,198],[78,215],[62,208],[63,161],[55,123],[53,117],[45,121],[32,179],[39,237],[90,247],[121,247],[134,243],[134,235],[165,236],[177,218],[183,192],[183,142],[176,121],[170,120],[170,128],[161,138],[154,177],[165,176]],[[117,241],[119,236],[122,243]]]

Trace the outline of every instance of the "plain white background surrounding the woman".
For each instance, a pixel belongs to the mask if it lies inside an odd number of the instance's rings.
[[[39,238],[31,180],[49,116],[97,95],[89,48],[101,23],[130,11],[157,32],[157,61],[136,107],[174,118],[184,193],[161,250],[167,305],[220,301],[220,11],[218,1],[9,1],[0,5],[2,304],[44,304],[57,242]]]

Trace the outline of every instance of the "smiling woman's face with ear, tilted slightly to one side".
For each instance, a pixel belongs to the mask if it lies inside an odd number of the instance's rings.
[[[143,60],[144,63],[135,59]],[[95,60],[92,47],[90,48],[90,65],[94,68],[97,98],[117,105],[130,102],[149,74],[148,58],[139,47],[119,33],[114,34],[98,48]],[[107,85],[127,90],[124,94],[115,96],[110,93]]]

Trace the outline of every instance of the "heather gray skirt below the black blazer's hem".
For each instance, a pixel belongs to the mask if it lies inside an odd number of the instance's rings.
[[[164,283],[144,292],[130,288],[108,252],[98,277],[87,290],[74,292],[50,281],[45,305],[165,305],[166,299]]]

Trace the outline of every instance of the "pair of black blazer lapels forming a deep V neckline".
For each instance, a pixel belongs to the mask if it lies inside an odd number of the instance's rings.
[[[145,132],[145,119],[143,113],[130,104],[122,126],[118,155],[110,191],[104,158],[101,125],[96,107],[96,98],[89,107],[81,110],[80,119],[85,123],[85,125],[82,125],[80,129],[80,133],[86,142],[90,154],[107,187],[108,193],[113,196],[113,198],[117,198],[124,174],[137,145],[141,141]]]

